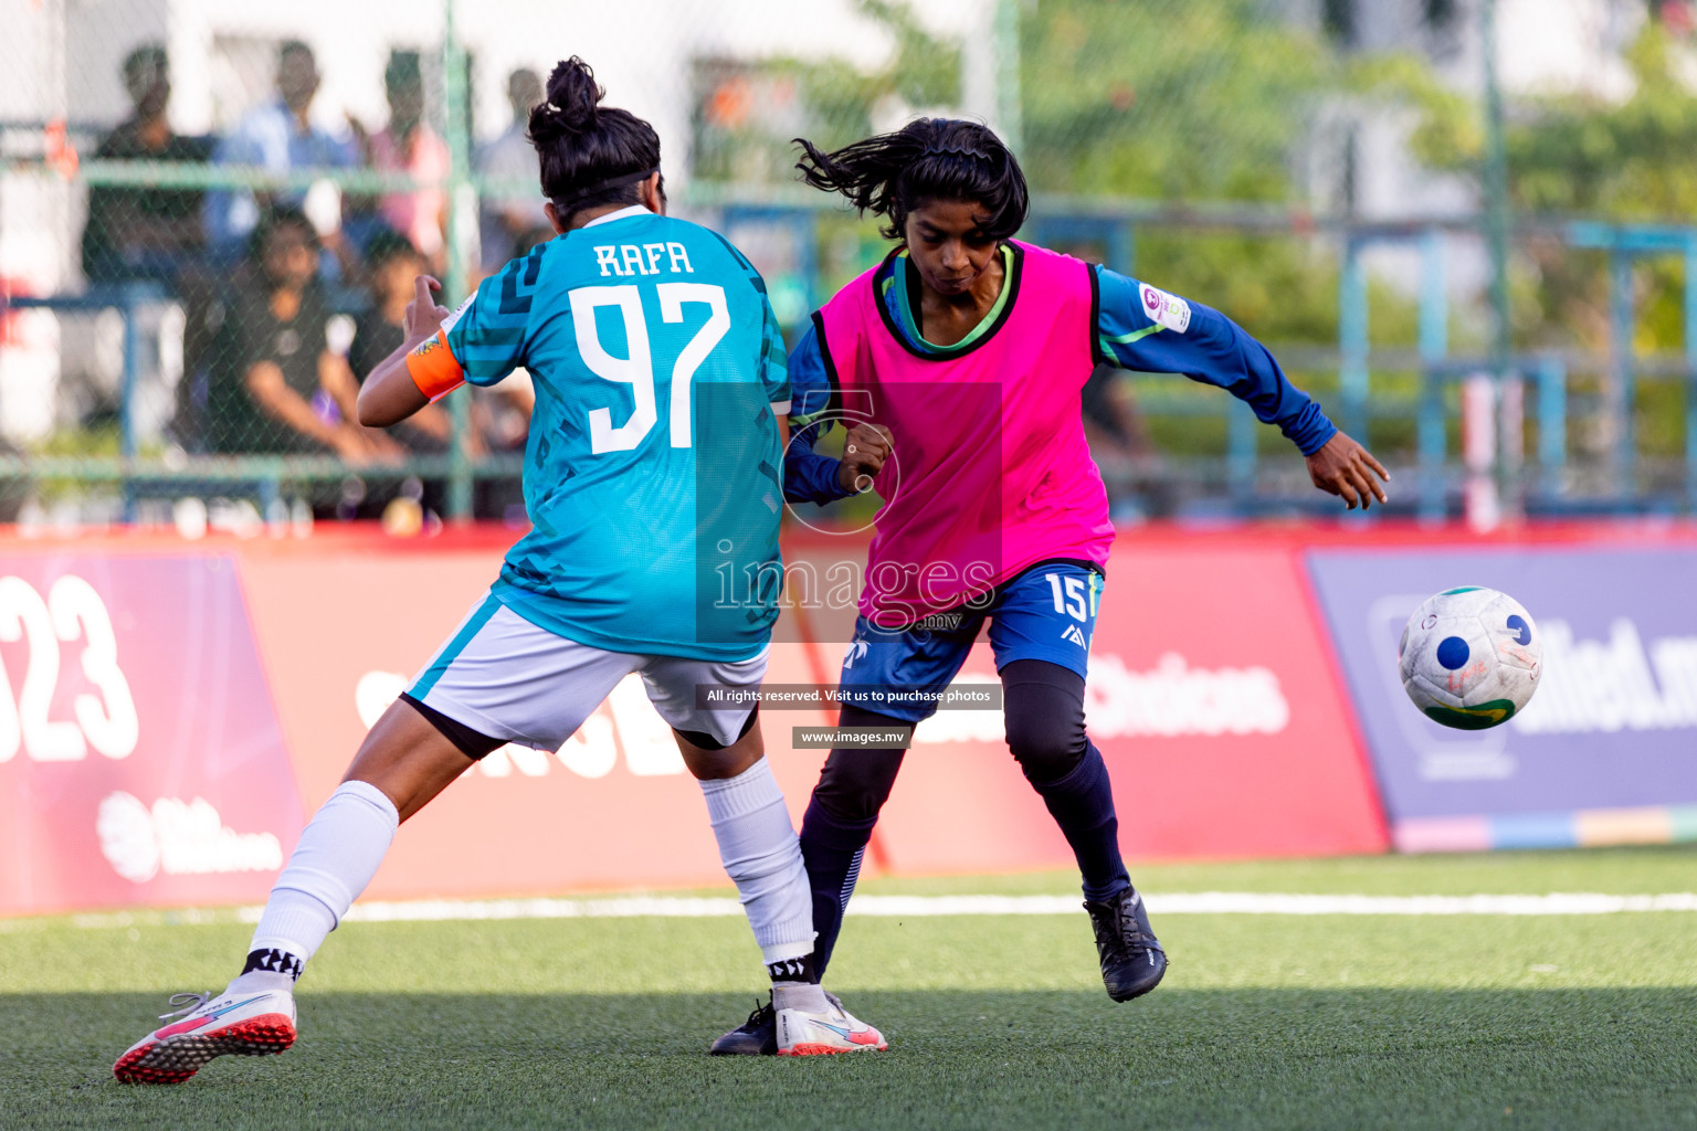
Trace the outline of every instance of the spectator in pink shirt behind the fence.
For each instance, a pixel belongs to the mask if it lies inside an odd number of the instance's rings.
[[[378,197],[377,215],[440,271],[450,154],[448,142],[424,120],[424,75],[417,51],[389,53],[384,88],[389,93],[389,125],[363,137],[367,163],[380,173],[409,173],[419,187]],[[355,132],[363,134],[358,127]]]

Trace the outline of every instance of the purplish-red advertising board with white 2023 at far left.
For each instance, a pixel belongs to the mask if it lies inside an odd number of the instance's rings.
[[[236,560],[0,556],[0,914],[263,899],[302,809]]]

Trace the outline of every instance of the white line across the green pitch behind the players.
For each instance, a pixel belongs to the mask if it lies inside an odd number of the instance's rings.
[[[1649,911],[1697,911],[1697,894],[1600,895],[1295,895],[1278,892],[1169,892],[1149,895],[1156,916],[1612,916]],[[260,907],[224,911],[120,911],[71,916],[80,928],[258,922]],[[930,916],[1076,916],[1078,895],[860,895],[855,916],[921,919]],[[479,919],[701,919],[736,917],[730,897],[621,895],[609,899],[428,899],[363,902],[353,922],[445,922]],[[36,929],[42,921],[0,921],[0,934]]]

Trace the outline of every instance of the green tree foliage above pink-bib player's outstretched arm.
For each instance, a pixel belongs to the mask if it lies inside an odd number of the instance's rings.
[[[1039,192],[1300,207],[1317,115],[1375,66],[1261,0],[1044,0],[1020,29],[1022,163]],[[1339,280],[1317,251],[1305,232],[1144,226],[1135,268],[1268,341],[1324,343]],[[1410,339],[1409,304],[1376,290],[1376,337]]]

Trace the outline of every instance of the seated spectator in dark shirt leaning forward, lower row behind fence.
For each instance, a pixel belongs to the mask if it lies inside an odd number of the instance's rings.
[[[317,281],[312,222],[299,209],[277,207],[255,227],[249,253],[216,349],[212,449],[334,453],[353,465],[399,456],[389,436],[356,424],[358,383],[326,343],[331,312]]]

